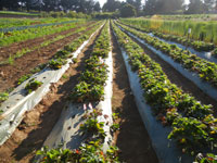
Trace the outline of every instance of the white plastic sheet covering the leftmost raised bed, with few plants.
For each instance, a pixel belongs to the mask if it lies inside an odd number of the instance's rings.
[[[93,33],[88,40],[84,41],[84,43],[73,52],[73,59],[77,58],[95,33]],[[71,63],[72,59],[68,59],[67,63],[56,71],[46,67],[41,72],[33,75],[28,80],[24,82],[9,95],[9,99],[0,106],[0,110],[3,111],[3,114],[0,115],[0,146],[10,138],[15,128],[20,125],[24,113],[34,109],[34,106],[40,102],[43,96],[50,91],[51,84],[59,82],[62,75],[69,67]],[[42,82],[43,84],[36,91],[26,96],[25,86],[31,78]]]

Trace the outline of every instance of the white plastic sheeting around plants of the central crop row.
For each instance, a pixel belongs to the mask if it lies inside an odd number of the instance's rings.
[[[92,111],[93,108],[102,110],[102,115],[98,117],[99,122],[104,122],[104,130],[106,137],[103,145],[103,150],[108,149],[112,136],[110,134],[110,126],[113,124],[112,120],[112,83],[113,83],[113,59],[112,51],[108,53],[108,58],[104,60],[104,63],[108,65],[108,78],[104,87],[104,100],[99,103],[73,103],[68,102],[66,108],[62,111],[59,122],[53,127],[49,137],[44,141],[43,146],[49,148],[56,148],[59,145],[63,145],[63,149],[77,149],[80,143],[87,139],[87,135],[82,135],[79,130],[80,124],[85,123],[82,116]],[[93,106],[92,106],[93,105]],[[106,115],[106,116],[104,116]],[[37,158],[39,160],[39,158]]]

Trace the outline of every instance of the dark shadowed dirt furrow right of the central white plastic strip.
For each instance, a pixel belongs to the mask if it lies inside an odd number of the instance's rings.
[[[128,75],[117,41],[113,42],[113,112],[119,113],[120,129],[115,133],[114,143],[120,149],[119,158],[127,163],[157,163],[149,134],[141,120],[129,86]]]

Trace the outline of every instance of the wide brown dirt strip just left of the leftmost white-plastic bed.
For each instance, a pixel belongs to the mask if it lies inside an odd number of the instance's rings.
[[[90,28],[92,27],[87,28],[87,30]],[[77,33],[47,47],[28,52],[24,57],[16,59],[12,65],[0,65],[0,91],[15,87],[21,76],[30,73],[30,70],[37,65],[47,63],[60,49],[81,35],[82,33]]]

